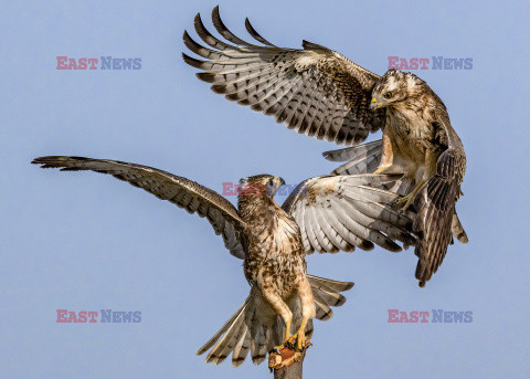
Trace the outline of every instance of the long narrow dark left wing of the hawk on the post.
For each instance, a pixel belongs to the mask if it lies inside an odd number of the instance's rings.
[[[108,159],[52,156],[36,158],[32,164],[41,165],[42,168],[61,168],[62,171],[92,170],[128,181],[161,200],[186,209],[189,213],[205,217],[215,233],[223,235],[224,244],[231,254],[244,259],[241,241],[244,221],[236,209],[215,191],[192,180],[156,168]]]

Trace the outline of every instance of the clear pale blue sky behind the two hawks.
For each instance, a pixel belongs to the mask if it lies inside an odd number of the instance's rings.
[[[180,53],[210,1],[20,1],[0,11],[0,372],[2,378],[262,378],[194,352],[248,293],[211,227],[108,176],[31,166],[43,155],[161,168],[216,191],[269,172],[288,183],[335,168],[336,146],[298,136],[199,82]],[[457,204],[469,244],[420,289],[412,249],[312,255],[308,272],[356,282],[317,322],[305,378],[530,376],[528,2],[220,1],[244,34],[303,39],[379,74],[388,56],[473,57],[415,71],[466,147]],[[56,56],[141,57],[137,71],[59,71]],[[372,138],[375,138],[375,135]],[[231,198],[234,201],[234,198]],[[278,201],[283,201],[279,198]],[[137,324],[57,324],[56,309],[141,310]],[[388,309],[471,310],[468,324],[389,324]]]

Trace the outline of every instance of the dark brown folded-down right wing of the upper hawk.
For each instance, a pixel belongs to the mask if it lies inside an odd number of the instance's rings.
[[[441,109],[437,119],[437,126],[447,140],[447,149],[437,160],[436,175],[414,199],[417,215],[413,228],[421,236],[415,249],[418,257],[416,278],[422,287],[442,264],[452,242],[455,203],[460,196],[460,183],[466,170],[464,147],[451,126],[447,113]],[[467,236],[460,239],[467,242]]]

